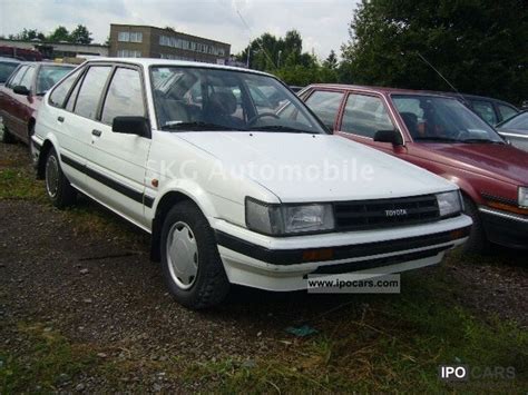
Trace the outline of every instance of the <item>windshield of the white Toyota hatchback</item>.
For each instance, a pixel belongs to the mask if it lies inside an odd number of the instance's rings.
[[[158,66],[150,78],[162,130],[326,132],[294,93],[268,76]]]

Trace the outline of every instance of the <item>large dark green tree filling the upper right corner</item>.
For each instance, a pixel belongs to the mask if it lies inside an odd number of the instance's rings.
[[[340,78],[459,91],[516,103],[528,86],[525,0],[362,0],[342,47]]]

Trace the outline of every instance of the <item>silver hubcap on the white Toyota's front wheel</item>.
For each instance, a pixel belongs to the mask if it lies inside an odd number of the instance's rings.
[[[179,288],[189,289],[198,273],[198,246],[187,224],[178,221],[170,227],[166,254],[173,280]]]

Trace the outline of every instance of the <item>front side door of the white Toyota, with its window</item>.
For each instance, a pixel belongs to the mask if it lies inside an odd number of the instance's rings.
[[[134,223],[148,227],[144,218],[145,171],[150,139],[111,130],[115,117],[146,117],[141,70],[135,66],[114,68],[101,100],[99,121],[90,131],[91,155],[87,161],[94,197]]]

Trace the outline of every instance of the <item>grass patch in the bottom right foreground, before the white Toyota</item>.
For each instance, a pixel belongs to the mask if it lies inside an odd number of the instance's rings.
[[[360,319],[346,307],[319,322],[321,335],[248,364],[229,358],[193,364],[186,378],[223,392],[475,392],[522,393],[528,385],[528,333],[485,323],[449,300],[442,282],[404,276],[400,297],[380,297]],[[371,297],[370,300],[374,299]],[[446,384],[441,364],[512,366],[515,379]],[[457,387],[458,385],[458,387]]]

